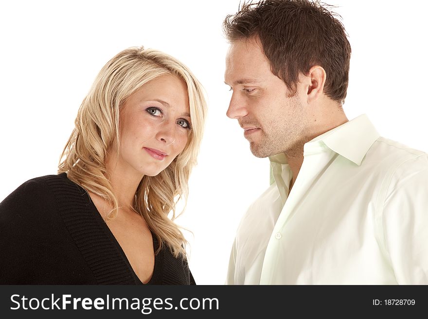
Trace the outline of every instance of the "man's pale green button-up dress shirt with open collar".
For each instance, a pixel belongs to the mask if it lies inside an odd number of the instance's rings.
[[[304,145],[242,218],[230,285],[428,284],[428,155],[361,115]]]

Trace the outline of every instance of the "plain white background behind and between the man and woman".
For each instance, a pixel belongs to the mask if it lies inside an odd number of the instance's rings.
[[[428,151],[427,1],[332,0],[352,47],[344,110],[366,113],[385,137]],[[190,67],[209,118],[190,198],[178,224],[198,284],[223,284],[237,224],[269,184],[251,155],[223,83],[222,21],[239,0],[8,1],[0,4],[0,201],[26,180],[55,174],[77,109],[103,65],[144,45]]]

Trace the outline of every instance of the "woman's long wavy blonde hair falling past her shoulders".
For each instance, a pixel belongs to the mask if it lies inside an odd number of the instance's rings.
[[[178,60],[157,50],[136,47],[123,50],[108,61],[79,108],[75,128],[61,154],[58,173],[67,172],[70,180],[105,199],[114,207],[107,220],[115,218],[119,206],[106,177],[105,161],[112,143],[117,143],[119,150],[120,109],[144,84],[167,74],[187,84],[192,130],[186,147],[167,168],[156,176],[143,177],[133,209],[156,235],[160,244],[156,253],[166,244],[178,257],[185,255],[187,241],[173,220],[179,215],[176,216],[178,201],[187,201],[188,180],[196,165],[207,112],[201,84]]]

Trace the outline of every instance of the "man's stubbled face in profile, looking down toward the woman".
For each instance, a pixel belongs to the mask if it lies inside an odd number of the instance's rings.
[[[225,83],[233,90],[227,116],[238,120],[255,156],[287,153],[302,144],[308,118],[302,87],[298,84],[290,96],[285,83],[272,74],[260,41],[231,43]]]

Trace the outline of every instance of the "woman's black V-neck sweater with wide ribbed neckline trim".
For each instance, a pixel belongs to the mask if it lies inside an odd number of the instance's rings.
[[[153,236],[154,249],[158,247]],[[29,180],[0,203],[0,284],[142,285],[88,193],[66,173]],[[194,285],[163,245],[148,284]]]

